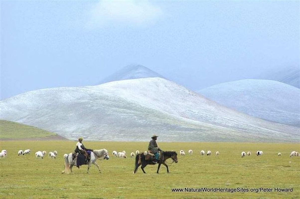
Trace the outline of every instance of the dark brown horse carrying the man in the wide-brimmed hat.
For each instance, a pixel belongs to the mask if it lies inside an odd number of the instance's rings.
[[[175,151],[162,151],[161,152],[161,158],[158,160],[158,168],[156,173],[158,173],[159,168],[161,167],[161,164],[165,165],[167,167],[167,173],[169,173],[168,165],[165,163],[167,159],[171,158],[175,163],[178,162],[177,160],[177,153]],[[135,168],[134,168],[134,174],[137,172],[137,168],[141,166],[141,169],[143,170],[144,174],[146,172],[144,171],[144,168],[147,165],[155,165],[155,163],[152,162],[152,160],[146,160],[145,155],[143,153],[137,154],[135,158]]]

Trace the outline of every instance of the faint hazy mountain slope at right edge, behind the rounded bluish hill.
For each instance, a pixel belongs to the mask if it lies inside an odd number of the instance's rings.
[[[300,67],[286,67],[278,71],[270,71],[254,79],[275,80],[300,88]]]

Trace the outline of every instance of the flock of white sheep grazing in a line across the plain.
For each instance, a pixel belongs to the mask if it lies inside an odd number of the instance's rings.
[[[43,159],[43,157],[46,155],[46,151],[37,151],[36,153],[35,153],[35,157],[36,158],[41,158],[41,159]],[[136,156],[137,154],[139,154],[140,153],[140,151],[136,151],[135,153],[134,152],[131,152],[131,154],[130,154],[130,157],[134,157],[134,156]],[[145,152],[143,152],[144,153],[144,155],[147,155],[148,154],[148,152],[147,151],[145,151]],[[192,154],[193,153],[193,150],[188,150],[188,154]],[[25,155],[25,154],[30,154],[30,149],[26,149],[26,150],[19,150],[18,151],[18,156],[20,156],[20,155]],[[49,153],[48,153],[49,155],[49,158],[53,158],[53,159],[55,159],[56,158],[56,156],[57,156],[57,151],[50,151]],[[180,155],[182,155],[182,156],[184,156],[185,155],[185,152],[183,151],[183,150],[180,150],[180,152],[179,152],[179,154]],[[204,150],[201,150],[200,151],[200,154],[201,155],[204,155],[205,154],[205,151]],[[219,153],[219,151],[216,151],[216,156],[217,155],[219,155],[220,153]],[[247,156],[250,156],[251,155],[251,152],[250,151],[248,151],[247,153],[245,152],[245,151],[243,151],[242,153],[241,153],[241,157],[243,158],[244,156],[246,156],[246,154],[247,154]],[[262,151],[256,151],[256,155],[257,156],[262,156],[262,154],[263,154],[263,152]],[[2,150],[1,151],[1,153],[0,153],[0,158],[5,158],[6,157],[6,155],[7,155],[7,151],[6,150]],[[207,156],[210,156],[211,155],[211,151],[210,150],[208,150],[207,151],[207,153],[206,153],[206,155]],[[64,154],[64,158],[67,156],[67,154]],[[126,151],[122,151],[122,152],[117,152],[117,151],[113,151],[113,156],[115,156],[115,157],[118,157],[118,158],[126,158],[127,156],[126,156]],[[281,156],[281,153],[278,153],[278,156]],[[292,151],[291,152],[291,154],[289,155],[290,157],[292,157],[292,156],[299,156],[299,152],[298,151]]]

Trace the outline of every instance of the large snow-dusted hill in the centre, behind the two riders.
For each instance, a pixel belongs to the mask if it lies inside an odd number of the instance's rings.
[[[1,119],[66,138],[148,141],[300,141],[299,128],[226,108],[162,78],[49,88],[0,102]]]

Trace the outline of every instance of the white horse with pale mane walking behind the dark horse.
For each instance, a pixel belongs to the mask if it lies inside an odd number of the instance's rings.
[[[76,161],[77,161],[77,157],[75,157],[73,159],[72,157],[73,153],[69,153],[65,158],[64,158],[64,170],[62,171],[62,173],[72,173],[72,167],[76,165]],[[99,165],[96,163],[97,159],[109,159],[110,157],[108,156],[107,150],[106,149],[100,149],[100,150],[94,150],[93,152],[91,152],[91,159],[88,162],[88,170],[91,167],[91,164],[94,164],[97,166],[99,173],[101,173],[101,170],[99,168]],[[87,170],[87,173],[88,173]]]

